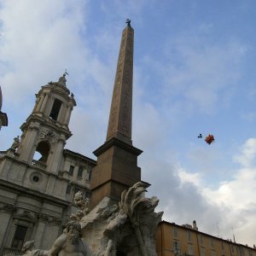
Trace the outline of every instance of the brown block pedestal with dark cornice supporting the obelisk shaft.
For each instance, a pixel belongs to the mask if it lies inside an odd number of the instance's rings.
[[[93,169],[91,180],[91,206],[95,207],[104,196],[118,202],[124,189],[129,189],[141,180],[141,168],[137,166],[138,148],[119,142],[113,143],[100,151],[97,165]],[[111,143],[111,141],[109,141]]]

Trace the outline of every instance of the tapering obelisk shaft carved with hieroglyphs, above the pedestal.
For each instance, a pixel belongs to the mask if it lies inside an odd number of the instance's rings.
[[[133,28],[129,25],[122,34],[107,133],[107,140],[117,137],[126,143],[131,143],[134,38]]]

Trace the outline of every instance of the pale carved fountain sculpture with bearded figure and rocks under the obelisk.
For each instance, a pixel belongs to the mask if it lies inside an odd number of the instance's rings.
[[[157,256],[155,231],[163,212],[154,212],[159,200],[147,198],[148,183],[138,182],[123,191],[117,204],[108,197],[89,212],[89,201],[79,191],[67,228],[49,249],[48,256]],[[25,243],[26,245],[26,243]],[[29,246],[28,246],[29,247]],[[43,254],[37,254],[37,253]],[[44,256],[25,250],[26,256]]]

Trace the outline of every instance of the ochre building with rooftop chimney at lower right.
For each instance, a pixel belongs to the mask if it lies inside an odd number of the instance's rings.
[[[224,240],[198,230],[193,225],[160,222],[156,233],[158,256],[256,256],[255,247]]]

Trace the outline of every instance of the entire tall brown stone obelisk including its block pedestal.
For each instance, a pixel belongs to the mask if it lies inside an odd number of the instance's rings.
[[[94,151],[97,165],[91,179],[91,207],[108,196],[120,200],[124,189],[141,180],[137,156],[143,151],[132,146],[132,73],[134,30],[128,20],[120,49],[108,120],[107,140]]]

